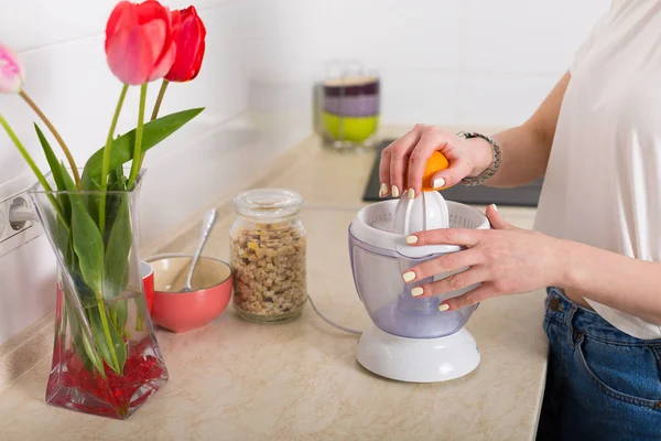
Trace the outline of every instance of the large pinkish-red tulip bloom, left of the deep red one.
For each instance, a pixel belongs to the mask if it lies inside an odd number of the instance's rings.
[[[178,17],[175,17],[175,20]],[[120,1],[106,25],[106,55],[122,83],[140,85],[162,78],[176,55],[178,23],[155,0]]]

